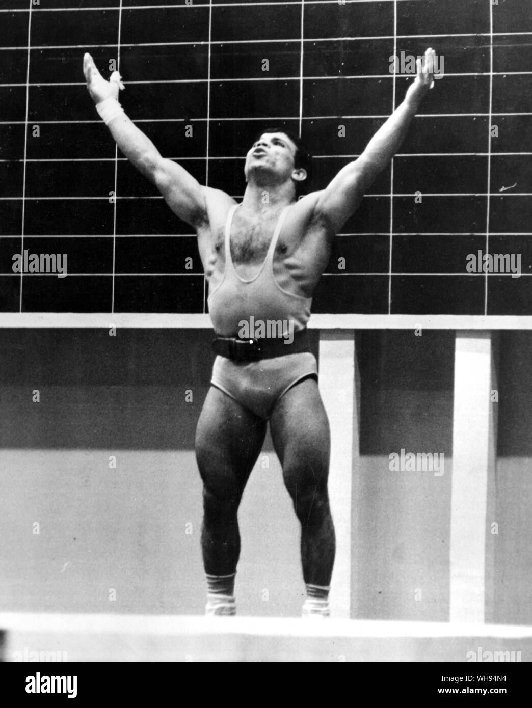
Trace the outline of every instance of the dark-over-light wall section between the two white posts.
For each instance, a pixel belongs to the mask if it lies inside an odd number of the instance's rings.
[[[357,335],[361,423],[360,469],[353,471],[353,614],[446,622],[454,333]],[[443,453],[443,474],[391,472],[390,453],[401,449]]]

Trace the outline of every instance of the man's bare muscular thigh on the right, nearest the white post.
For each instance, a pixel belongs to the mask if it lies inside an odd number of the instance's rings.
[[[290,493],[324,489],[329,474],[329,421],[317,381],[304,379],[279,399],[270,419],[273,445]]]

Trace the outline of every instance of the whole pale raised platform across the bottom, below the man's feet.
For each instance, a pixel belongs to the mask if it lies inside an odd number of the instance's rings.
[[[3,661],[531,661],[532,627],[277,617],[0,614]]]

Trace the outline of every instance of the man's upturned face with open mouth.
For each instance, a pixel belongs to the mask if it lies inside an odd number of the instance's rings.
[[[297,148],[288,135],[283,132],[263,133],[251,146],[246,156],[244,173],[249,179],[251,172],[268,173],[269,178],[276,176],[276,181],[284,182],[294,171]]]

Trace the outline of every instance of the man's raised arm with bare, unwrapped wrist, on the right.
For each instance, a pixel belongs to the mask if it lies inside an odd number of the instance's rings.
[[[434,81],[431,72],[434,56],[434,50],[428,49],[424,62],[417,60],[417,76],[404,101],[373,135],[361,156],[342,168],[327,188],[318,193],[315,215],[324,219],[331,234],[338,232],[356,211],[363,195],[400,148],[419,104]]]

